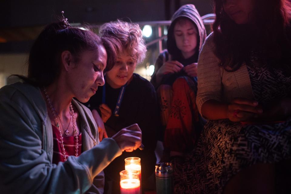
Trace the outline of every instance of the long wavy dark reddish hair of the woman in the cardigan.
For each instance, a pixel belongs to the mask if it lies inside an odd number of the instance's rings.
[[[253,49],[263,51],[269,65],[291,64],[290,0],[254,1],[254,21],[238,25],[224,12],[222,0],[214,0],[215,54],[227,71],[238,70]]]

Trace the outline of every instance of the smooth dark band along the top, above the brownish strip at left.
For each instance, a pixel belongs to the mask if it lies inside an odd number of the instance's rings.
[[[169,20],[185,4],[201,15],[212,12],[211,0],[0,0],[0,27],[46,25],[61,11],[70,22],[99,24],[116,18],[132,21]]]

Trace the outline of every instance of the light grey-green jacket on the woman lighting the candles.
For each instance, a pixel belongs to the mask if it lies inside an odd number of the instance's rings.
[[[102,170],[122,152],[113,139],[99,143],[91,111],[73,104],[81,117],[82,154],[56,165],[52,124],[40,89],[25,83],[0,89],[0,193],[85,193],[92,183],[89,191],[103,192]]]

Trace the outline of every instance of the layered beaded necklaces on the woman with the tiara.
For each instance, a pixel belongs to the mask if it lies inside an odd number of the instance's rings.
[[[60,124],[58,122],[58,118],[57,116],[59,117],[59,114],[55,111],[55,107],[52,105],[51,103],[51,100],[49,99],[49,95],[48,93],[46,92],[46,89],[45,87],[43,87],[43,91],[45,92],[45,97],[46,97],[46,100],[48,101],[49,103],[49,107],[52,111],[52,115],[54,117],[54,120],[55,120],[55,126],[58,128],[59,130],[59,133],[60,133],[60,142],[61,142],[61,148],[62,148],[62,155],[64,157],[64,161],[67,161],[67,155],[66,155],[66,150],[65,150],[65,146],[64,146],[64,141],[63,141],[63,135],[62,135],[62,131],[61,131],[61,128],[60,128]],[[78,130],[77,130],[77,124],[76,124],[76,117],[75,117],[75,112],[74,112],[74,109],[73,109],[73,105],[72,105],[72,102],[70,102],[70,106],[69,106],[69,111],[70,111],[70,114],[71,114],[71,118],[72,118],[72,122],[73,122],[73,131],[75,133],[75,142],[76,142],[76,148],[75,148],[75,156],[78,156],[78,148],[79,148],[79,144],[78,144]],[[59,117],[59,120],[60,120],[60,123],[62,124],[62,121],[61,121],[61,118]],[[71,122],[71,119],[70,119],[70,122]],[[70,126],[70,123],[69,123],[69,126]],[[69,128],[68,126],[68,128]],[[63,127],[63,130],[65,130],[65,135],[69,135],[69,130],[68,128],[65,129],[64,125],[62,124],[62,127]]]

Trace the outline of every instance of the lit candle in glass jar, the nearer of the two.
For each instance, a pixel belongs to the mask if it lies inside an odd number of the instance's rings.
[[[119,174],[121,194],[140,194],[138,170],[122,170]]]

